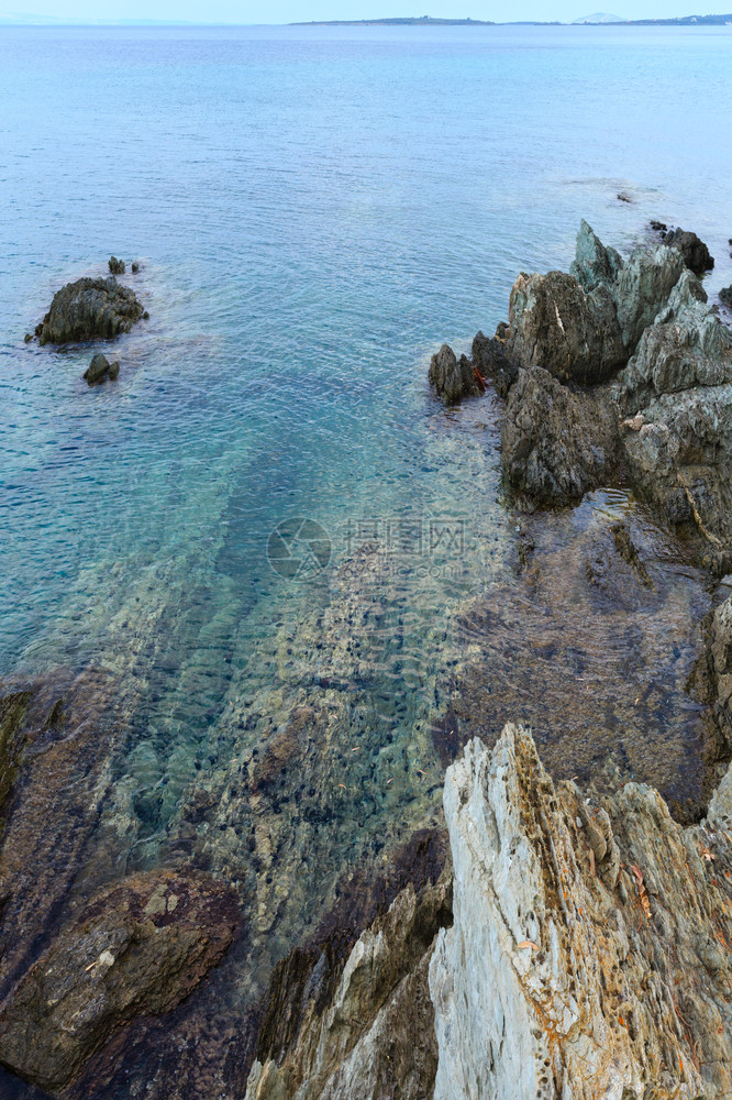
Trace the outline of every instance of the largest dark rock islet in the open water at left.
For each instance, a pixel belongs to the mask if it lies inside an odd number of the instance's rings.
[[[56,292],[36,336],[41,344],[112,340],[129,332],[142,316],[134,290],[112,276],[80,278]]]

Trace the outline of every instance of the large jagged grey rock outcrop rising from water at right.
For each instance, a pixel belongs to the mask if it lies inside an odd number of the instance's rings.
[[[695,524],[723,568],[732,543],[732,333],[681,253],[665,243],[623,262],[583,222],[572,270],[561,277],[520,275],[511,293],[507,350],[533,378],[520,375],[508,392],[501,450],[510,483],[544,504],[630,483],[673,522]],[[602,289],[626,366],[617,382],[588,388],[609,372],[601,346],[581,336],[587,302]],[[546,363],[559,381],[583,388],[550,394],[541,373]],[[542,389],[545,400],[537,398]]]

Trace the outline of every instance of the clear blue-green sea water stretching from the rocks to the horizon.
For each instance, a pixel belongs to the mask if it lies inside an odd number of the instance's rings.
[[[251,810],[217,811],[212,868],[258,891],[240,1001],[342,868],[439,799],[455,624],[510,532],[496,409],[445,414],[430,353],[492,331],[519,270],[566,267],[580,217],[625,249],[648,218],[694,229],[710,290],[732,280],[731,46],[727,28],[0,31],[0,672],[119,679],[115,872],[170,859],[191,785],[231,791],[293,706],[331,715],[330,832],[278,834],[253,878],[225,840]],[[22,338],[112,252],[141,261],[151,320],[89,391],[89,348]],[[293,585],[267,542],[297,516],[332,559]]]

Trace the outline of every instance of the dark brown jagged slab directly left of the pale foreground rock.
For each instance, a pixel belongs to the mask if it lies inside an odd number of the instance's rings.
[[[432,1094],[428,967],[452,923],[444,833],[417,834],[387,882],[364,886],[276,967],[246,1100]]]

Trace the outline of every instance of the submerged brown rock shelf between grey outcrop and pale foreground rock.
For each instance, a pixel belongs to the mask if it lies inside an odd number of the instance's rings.
[[[658,789],[698,821],[732,751],[708,675],[709,592],[694,544],[620,493],[520,518],[514,571],[465,608],[464,661],[433,726],[451,763],[473,737],[531,727],[555,780]]]

